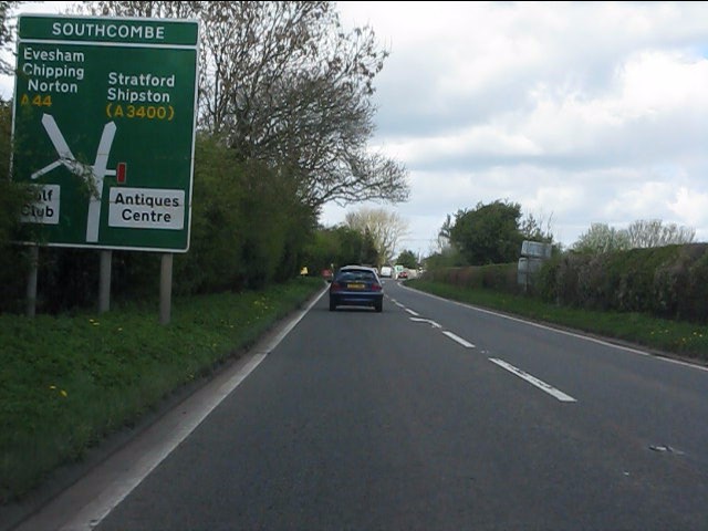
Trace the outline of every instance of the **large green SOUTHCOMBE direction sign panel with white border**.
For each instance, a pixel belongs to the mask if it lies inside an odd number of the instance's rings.
[[[199,24],[23,14],[13,176],[25,242],[189,247]]]

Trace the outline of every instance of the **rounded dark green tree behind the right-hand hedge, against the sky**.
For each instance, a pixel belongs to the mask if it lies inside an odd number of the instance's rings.
[[[521,206],[496,200],[477,204],[473,210],[458,210],[450,229],[450,242],[470,266],[508,263],[518,260],[523,236],[519,229]]]

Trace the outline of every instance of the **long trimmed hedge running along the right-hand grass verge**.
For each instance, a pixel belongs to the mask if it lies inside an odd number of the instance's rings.
[[[441,268],[426,279],[460,288],[522,293],[517,263]],[[528,293],[585,310],[639,312],[708,323],[708,243],[552,258]]]

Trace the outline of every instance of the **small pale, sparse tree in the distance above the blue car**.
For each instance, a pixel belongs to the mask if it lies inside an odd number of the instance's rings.
[[[344,222],[362,235],[368,230],[378,251],[378,262],[375,263],[377,267],[392,261],[398,241],[408,230],[408,223],[398,214],[383,208],[363,207],[347,212]]]

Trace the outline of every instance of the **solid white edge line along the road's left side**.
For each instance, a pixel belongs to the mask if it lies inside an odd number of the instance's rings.
[[[252,357],[235,374],[227,383],[222,384],[198,414],[190,419],[184,419],[179,423],[178,428],[174,431],[174,436],[164,445],[153,449],[153,451],[143,456],[139,462],[125,470],[125,473],[116,478],[96,498],[79,511],[74,518],[60,528],[61,531],[91,531],[98,525],[143,480],[159,466],[167,456],[169,456],[177,446],[179,446],[207,416],[231,393],[233,392],[260,364],[268,354],[295,327],[295,325],[305,316],[305,314],[316,304],[322,295],[326,293],[326,288],[315,296],[312,302],[301,310],[272,340],[270,340],[264,348],[256,352]]]

